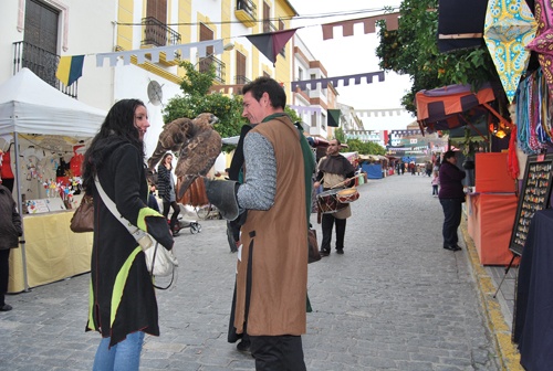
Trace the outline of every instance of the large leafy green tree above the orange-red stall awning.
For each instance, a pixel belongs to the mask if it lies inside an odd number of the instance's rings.
[[[416,113],[415,94],[450,84],[471,84],[478,89],[491,82],[503,106],[507,97],[488,49],[480,47],[440,53],[438,51],[437,0],[404,0],[399,8],[399,29],[387,31],[380,22],[380,43],[376,55],[380,67],[411,77],[411,89],[403,97],[403,106]],[[501,108],[503,109],[503,108]]]

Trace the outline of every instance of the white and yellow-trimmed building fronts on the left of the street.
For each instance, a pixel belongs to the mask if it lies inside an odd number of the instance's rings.
[[[244,35],[290,28],[296,15],[286,0],[7,0],[0,6],[0,84],[29,67],[39,77],[96,108],[108,110],[123,98],[142,99],[152,127],[146,136],[150,153],[161,131],[164,104],[181,94],[185,72],[180,59],[198,68],[216,66],[213,85],[222,93],[239,93],[243,84],[261,75],[281,82],[290,92],[293,53],[289,42],[276,62],[269,61]],[[207,49],[206,56],[191,49],[177,53],[136,55],[125,61],[107,59],[97,65],[100,53],[197,43],[222,39],[220,53]],[[84,55],[83,74],[70,87],[55,77],[60,56]],[[9,57],[8,57],[9,56]],[[291,94],[289,94],[290,96]],[[79,123],[75,123],[79,125]]]

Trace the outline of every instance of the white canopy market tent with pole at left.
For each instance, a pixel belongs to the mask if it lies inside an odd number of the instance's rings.
[[[0,137],[12,136],[14,140],[15,190],[20,184],[18,134],[91,138],[98,131],[105,116],[104,110],[71,98],[29,68],[22,68],[0,85]],[[21,192],[17,191],[17,197],[21,213]],[[24,241],[24,236],[21,240]],[[21,247],[28,289],[24,242]]]

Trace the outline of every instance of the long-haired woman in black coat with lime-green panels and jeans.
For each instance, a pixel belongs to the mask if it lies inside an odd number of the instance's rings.
[[[144,103],[117,102],[84,158],[83,184],[94,198],[94,243],[86,330],[102,335],[94,370],[138,370],[144,335],[159,336],[157,301],[142,247],[112,214],[94,178],[117,211],[148,232],[160,246],[173,248],[165,218],[147,206],[144,135],[149,127]]]

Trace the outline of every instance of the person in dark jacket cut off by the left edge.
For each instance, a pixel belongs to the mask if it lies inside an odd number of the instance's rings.
[[[15,209],[15,201],[7,187],[0,184],[0,311],[11,310],[6,304],[8,277],[10,273],[10,250],[19,246],[19,239],[23,235],[21,216]]]

